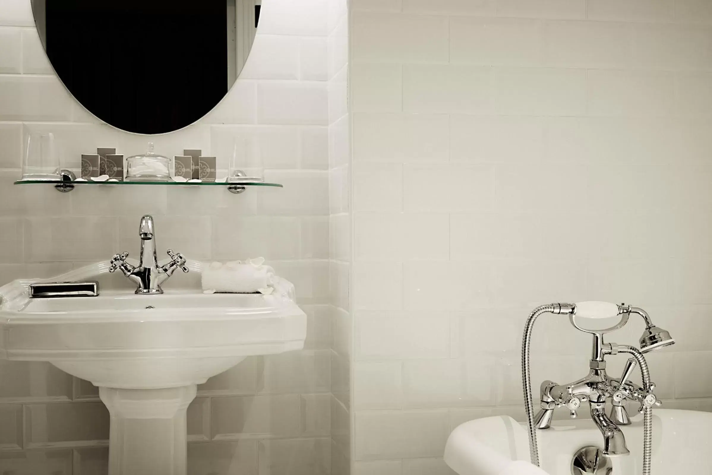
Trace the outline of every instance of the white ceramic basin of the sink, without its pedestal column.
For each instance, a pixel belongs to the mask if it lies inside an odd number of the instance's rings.
[[[293,301],[197,290],[27,299],[0,318],[6,358],[127,389],[204,383],[246,356],[302,348],[306,330]]]

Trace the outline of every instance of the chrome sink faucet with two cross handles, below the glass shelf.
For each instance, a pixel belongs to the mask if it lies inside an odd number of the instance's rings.
[[[139,265],[133,266],[126,262],[129,253],[122,252],[112,258],[109,272],[120,269],[127,279],[137,285],[137,294],[162,294],[161,284],[167,281],[176,269],[180,267],[183,272],[188,272],[185,257],[169,249],[167,254],[171,259],[170,262],[166,265],[158,265],[152,216],[145,215],[141,218],[138,233],[141,238]]]

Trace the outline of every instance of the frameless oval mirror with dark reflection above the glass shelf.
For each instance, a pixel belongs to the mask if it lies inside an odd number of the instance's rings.
[[[261,0],[32,0],[69,92],[107,124],[163,134],[226,95],[252,46]]]

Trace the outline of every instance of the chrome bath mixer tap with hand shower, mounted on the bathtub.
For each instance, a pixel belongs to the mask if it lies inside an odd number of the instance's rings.
[[[544,313],[568,315],[570,323],[576,329],[590,333],[593,338],[592,352],[589,362],[589,373],[584,378],[572,383],[557,384],[544,381],[540,387],[540,411],[533,413],[531,394],[531,376],[529,367],[529,348],[531,333],[535,320]],[[627,324],[629,316],[637,314],[644,319],[646,329],[639,340],[640,349],[635,346],[605,343],[604,334],[622,328]],[[590,330],[580,326],[576,317],[589,319],[607,319],[620,316],[614,326],[607,329]],[[549,304],[535,309],[529,316],[525,326],[522,346],[522,380],[525,395],[525,409],[528,418],[531,461],[539,465],[539,454],[536,441],[536,429],[548,429],[551,425],[553,412],[557,407],[567,407],[571,417],[576,417],[577,410],[584,402],[590,405],[590,415],[595,425],[600,429],[604,439],[603,449],[598,447],[582,447],[574,454],[572,474],[606,474],[612,472],[608,457],[629,454],[625,437],[620,425],[630,423],[625,403],[634,401],[639,404],[639,412],[644,414],[644,460],[643,474],[650,474],[650,454],[652,443],[652,412],[651,408],[659,406],[653,390],[654,383],[650,381],[650,373],[643,353],[664,348],[674,343],[670,334],[654,326],[650,317],[643,309],[626,306],[625,304],[606,304],[604,302],[582,302],[580,304]],[[627,361],[620,378],[611,378],[606,373],[606,356],[617,353],[628,353]],[[639,366],[643,386],[638,387],[629,382],[634,368]],[[611,415],[606,414],[607,401],[611,401]],[[591,461],[596,466],[591,466]],[[600,464],[599,464],[600,463]]]

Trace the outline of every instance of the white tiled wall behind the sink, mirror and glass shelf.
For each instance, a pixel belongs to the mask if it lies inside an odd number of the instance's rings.
[[[199,260],[266,257],[296,285],[308,314],[303,351],[247,358],[199,387],[188,410],[191,475],[348,474],[350,317],[347,297],[342,309],[332,304],[329,277],[339,268],[332,262],[347,267],[350,259],[341,189],[350,161],[347,23],[345,0],[263,0],[253,51],[223,102],[187,129],[150,138],[167,156],[202,149],[224,172],[234,138],[248,137],[266,178],[283,190],[92,187],[61,195],[12,186],[26,132],[53,132],[72,168],[98,146],[130,155],[149,138],[83,110],[48,63],[30,0],[0,2],[0,285],[120,250],[135,254],[136,220],[152,213],[162,248]],[[347,296],[348,282],[337,294]],[[107,439],[108,412],[93,385],[48,363],[0,361],[0,472],[105,474]]]

